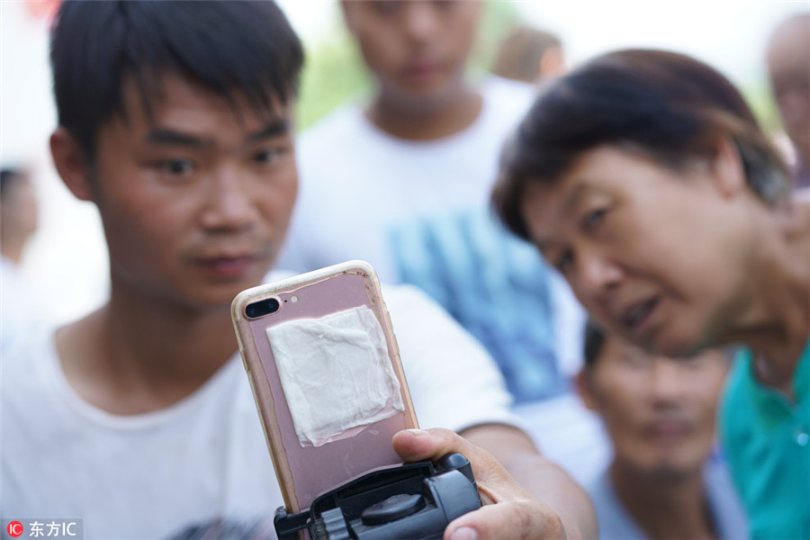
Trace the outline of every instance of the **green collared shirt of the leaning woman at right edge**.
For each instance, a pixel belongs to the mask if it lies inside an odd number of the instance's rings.
[[[810,341],[793,391],[790,401],[758,383],[750,350],[735,358],[720,426],[752,538],[810,539]]]

